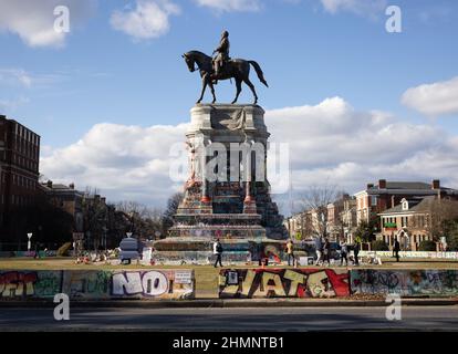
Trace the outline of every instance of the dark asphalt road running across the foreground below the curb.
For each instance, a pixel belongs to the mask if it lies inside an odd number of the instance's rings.
[[[32,331],[458,331],[458,306],[405,306],[403,320],[387,321],[385,308],[271,309],[71,309],[58,322],[53,309],[1,309],[0,332]]]

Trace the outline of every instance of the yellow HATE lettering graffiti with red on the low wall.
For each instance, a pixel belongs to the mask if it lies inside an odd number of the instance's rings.
[[[335,298],[348,296],[348,272],[332,269],[221,270],[219,296]]]

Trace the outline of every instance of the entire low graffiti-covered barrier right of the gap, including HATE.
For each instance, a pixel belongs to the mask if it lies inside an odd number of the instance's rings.
[[[456,296],[458,270],[226,269],[220,299],[342,298],[351,294]]]

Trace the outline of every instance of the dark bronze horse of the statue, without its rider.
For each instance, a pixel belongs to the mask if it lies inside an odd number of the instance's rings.
[[[254,85],[250,81],[250,64],[253,65],[256,73],[258,74],[259,80],[269,87],[267,81],[264,80],[264,74],[262,73],[261,66],[254,61],[247,61],[243,59],[232,59],[228,61],[221,70],[221,73],[218,77],[214,75],[214,65],[212,65],[212,58],[204,54],[199,51],[190,51],[181,55],[190,72],[196,71],[196,65],[200,71],[200,76],[202,77],[202,92],[200,94],[200,98],[197,103],[200,103],[204,98],[205,90],[207,85],[210,86],[211,94],[214,95],[212,103],[216,102],[215,96],[215,87],[214,87],[214,80],[228,80],[235,79],[236,86],[237,86],[237,95],[236,98],[232,101],[232,104],[237,102],[241,92],[241,84],[244,82],[254,95],[254,104],[258,103],[258,95],[256,94]]]

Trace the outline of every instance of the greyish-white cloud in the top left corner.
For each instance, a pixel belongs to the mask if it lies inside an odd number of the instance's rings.
[[[54,9],[66,6],[72,29],[90,17],[95,0],[0,0],[0,32],[18,34],[29,46],[62,46],[69,33],[54,30]]]

